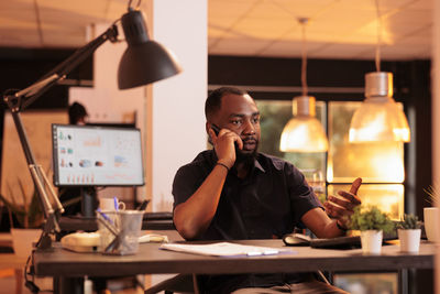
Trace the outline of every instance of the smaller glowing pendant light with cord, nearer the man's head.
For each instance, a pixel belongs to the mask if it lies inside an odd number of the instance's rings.
[[[329,143],[326,132],[316,118],[315,97],[307,96],[307,54],[305,26],[308,19],[298,19],[302,26],[302,95],[293,100],[293,115],[283,129],[279,150],[283,152],[326,152]]]

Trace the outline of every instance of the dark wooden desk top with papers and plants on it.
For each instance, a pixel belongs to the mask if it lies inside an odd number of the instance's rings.
[[[284,247],[282,240],[250,240],[240,243]],[[435,244],[422,241],[420,252],[399,252],[398,246],[384,246],[381,255],[363,255],[361,249],[329,250],[293,248],[294,254],[218,258],[158,249],[157,243],[140,244],[135,255],[76,253],[59,248],[35,252],[37,275],[111,276],[146,273],[263,273],[323,271],[373,271],[432,269]]]

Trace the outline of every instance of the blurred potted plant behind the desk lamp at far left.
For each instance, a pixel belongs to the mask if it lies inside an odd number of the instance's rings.
[[[9,210],[14,252],[19,257],[28,257],[31,253],[32,243],[37,241],[42,233],[41,228],[44,215],[36,190],[32,193],[31,197],[26,197],[22,182],[19,179],[18,183],[21,190],[20,195],[14,195],[8,185],[10,197],[0,195],[0,200],[3,202]],[[22,199],[21,203],[18,202],[20,198]],[[18,222],[18,227],[14,227],[12,215]]]

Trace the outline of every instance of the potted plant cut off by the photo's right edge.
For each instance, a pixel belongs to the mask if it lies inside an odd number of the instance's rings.
[[[440,210],[436,205],[439,205],[440,192],[435,186],[430,186],[425,189],[428,194],[428,203],[433,207],[424,208],[424,221],[425,221],[425,232],[428,241],[437,242],[440,241],[439,221],[440,221]]]

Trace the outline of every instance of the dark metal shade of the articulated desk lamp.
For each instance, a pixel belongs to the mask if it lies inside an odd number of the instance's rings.
[[[118,69],[120,89],[147,85],[182,72],[174,54],[150,40],[140,11],[129,10],[122,15],[122,28],[128,48]]]

